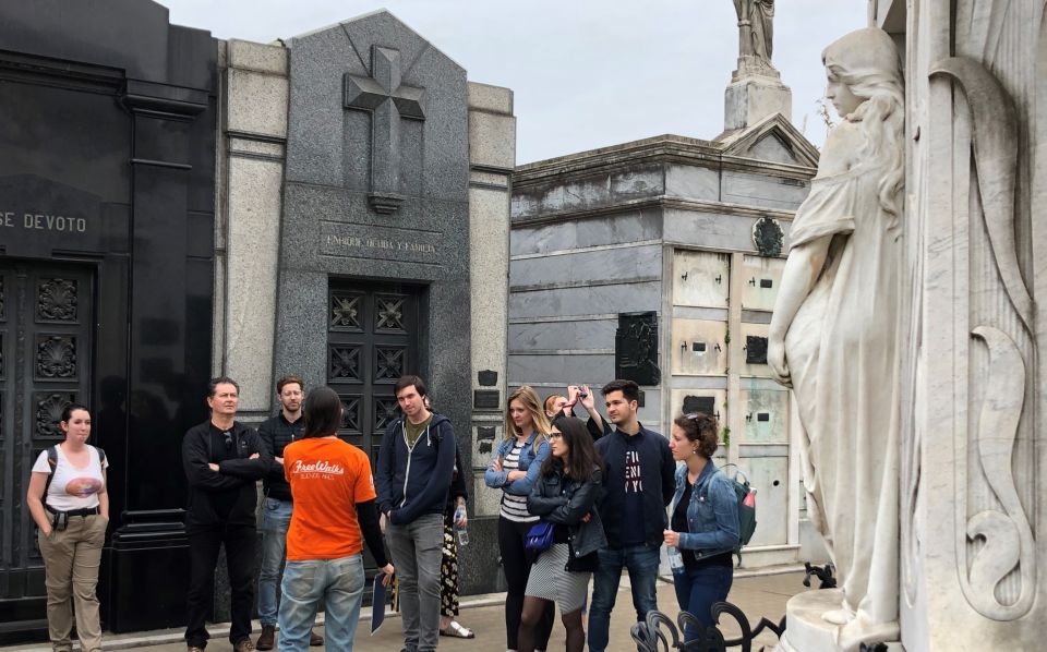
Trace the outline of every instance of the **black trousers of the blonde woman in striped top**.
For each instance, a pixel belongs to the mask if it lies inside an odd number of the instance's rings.
[[[502,555],[502,570],[505,572],[505,647],[516,650],[520,631],[520,615],[524,612],[524,593],[531,566],[538,554],[525,547],[528,531],[537,523],[518,523],[504,516],[498,517],[498,552]],[[534,627],[534,649],[544,650],[556,618],[556,605],[545,603],[542,617]]]

